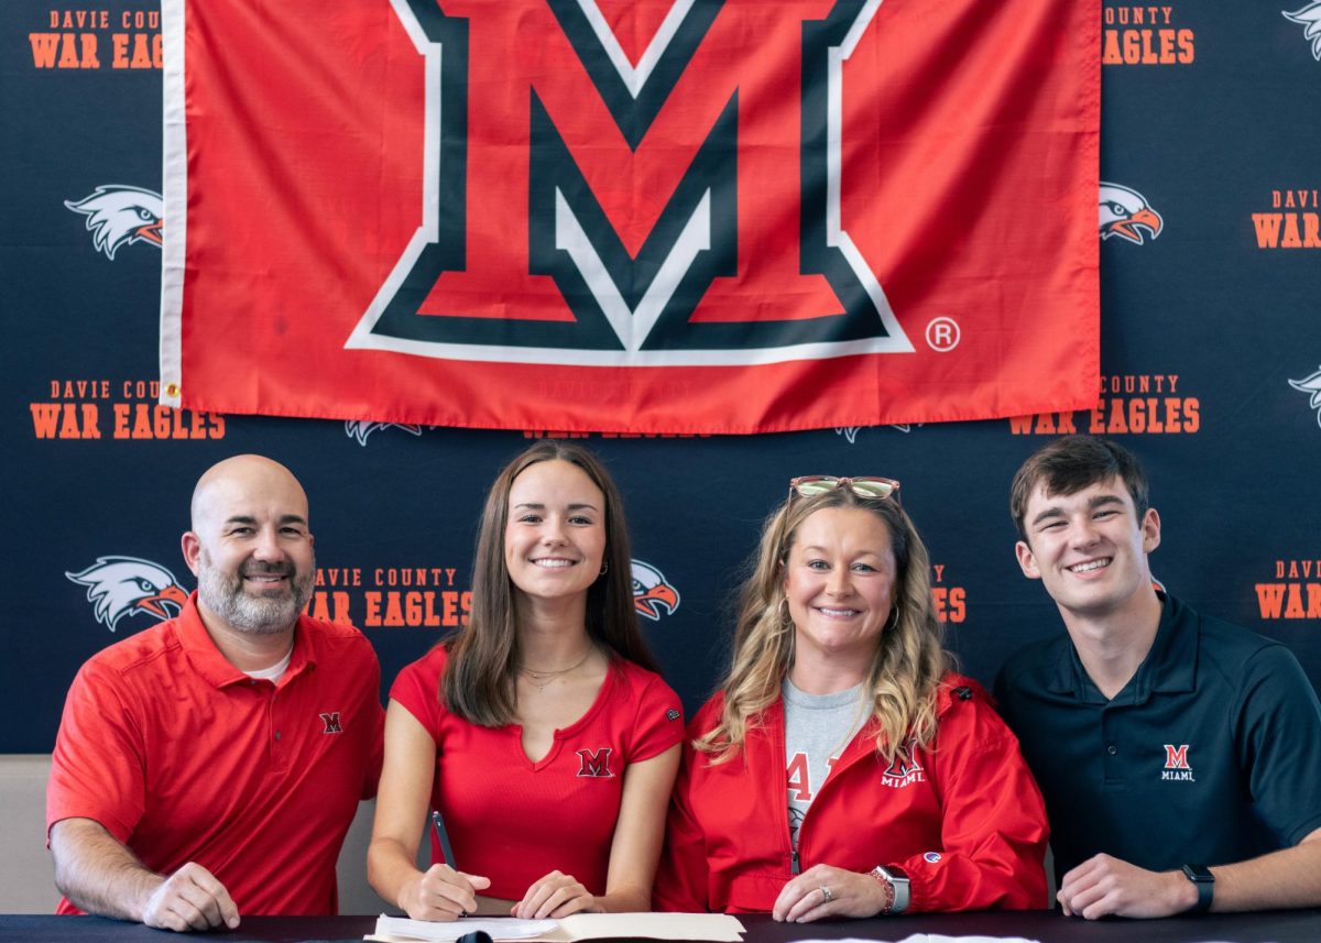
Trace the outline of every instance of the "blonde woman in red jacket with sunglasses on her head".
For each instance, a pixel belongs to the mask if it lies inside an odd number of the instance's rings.
[[[733,664],[688,728],[662,909],[1046,906],[1041,794],[982,688],[950,670],[898,489],[795,478],[768,520]]]

